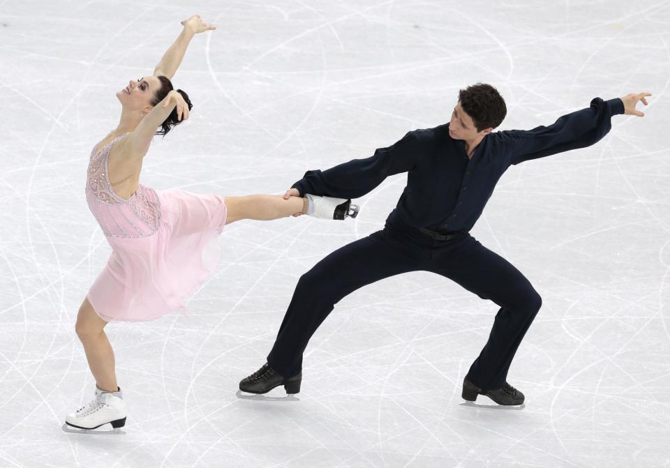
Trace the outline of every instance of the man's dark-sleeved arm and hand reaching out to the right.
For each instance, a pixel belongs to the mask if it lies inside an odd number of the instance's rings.
[[[590,146],[609,133],[611,116],[628,114],[643,117],[643,112],[636,110],[635,106],[639,101],[647,105],[647,96],[651,93],[633,93],[606,101],[595,98],[590,107],[566,114],[548,127],[499,132],[509,148],[510,164]]]

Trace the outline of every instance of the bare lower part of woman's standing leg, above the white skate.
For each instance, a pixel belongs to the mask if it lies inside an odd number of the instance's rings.
[[[77,314],[75,331],[84,345],[89,368],[96,379],[98,388],[115,392],[118,386],[114,372],[114,351],[103,330],[105,325],[107,322],[96,314],[89,299],[84,299]]]

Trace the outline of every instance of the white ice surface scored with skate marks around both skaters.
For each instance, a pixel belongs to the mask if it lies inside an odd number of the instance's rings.
[[[383,227],[400,174],[356,220],[227,226],[190,317],[107,326],[126,434],[61,430],[94,389],[74,323],[111,251],[89,152],[193,13],[218,29],[173,80],[191,119],[144,159],[161,190],[281,194],[445,123],[475,82],[507,101],[498,130],[653,93],[595,146],[510,167],[472,229],[543,299],[509,370],[525,407],[461,400],[498,306],[424,272],[338,303],[297,398],[237,395],[299,276]],[[670,466],[669,23],[646,0],[0,1],[0,466]]]

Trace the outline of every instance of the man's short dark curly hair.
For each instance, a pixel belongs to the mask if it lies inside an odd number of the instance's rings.
[[[466,114],[472,117],[477,132],[496,128],[507,115],[505,100],[490,84],[477,83],[459,91],[459,101]]]

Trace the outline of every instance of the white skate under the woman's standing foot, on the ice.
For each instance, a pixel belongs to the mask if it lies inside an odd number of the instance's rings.
[[[121,388],[110,393],[103,392],[96,386],[96,398],[76,412],[68,414],[63,430],[76,433],[125,434],[119,428],[126,425],[126,414],[126,403]],[[94,430],[107,423],[112,424],[112,430]]]

